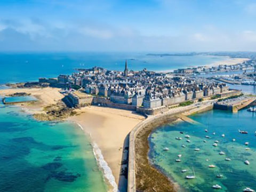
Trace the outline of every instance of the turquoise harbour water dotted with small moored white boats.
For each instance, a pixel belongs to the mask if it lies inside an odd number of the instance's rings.
[[[148,140],[151,163],[167,177],[179,183],[180,191],[211,192],[216,190],[212,189],[216,184],[222,187],[218,191],[243,191],[245,187],[255,190],[255,114],[249,113],[246,109],[237,114],[212,110],[191,118],[201,124],[192,125],[186,122],[169,124],[158,127],[150,134]],[[209,132],[205,132],[205,129]],[[239,129],[248,131],[248,134],[239,133]],[[190,135],[190,143],[186,142],[186,134]],[[221,137],[222,134],[225,134],[224,138]],[[205,138],[206,135],[210,139]],[[181,137],[182,140],[176,140],[176,137]],[[203,140],[207,142],[204,143]],[[215,140],[219,141],[217,147],[213,146]],[[249,142],[249,145],[245,146],[245,142]],[[182,145],[186,148],[182,148]],[[164,151],[164,147],[170,150]],[[245,150],[246,147],[250,150]],[[201,150],[195,151],[195,148]],[[225,155],[219,155],[220,151],[225,152]],[[179,154],[182,155],[181,162],[175,162]],[[231,161],[225,161],[225,158],[230,158]],[[245,160],[250,161],[250,165],[244,164]],[[209,168],[209,165],[216,167]],[[181,173],[181,170],[185,169],[188,172]],[[186,175],[194,174],[193,169],[196,179],[185,179]],[[223,178],[217,178],[217,174],[222,174]]]

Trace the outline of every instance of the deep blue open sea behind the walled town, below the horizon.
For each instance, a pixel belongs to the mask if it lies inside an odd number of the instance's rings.
[[[188,66],[207,65],[227,57],[214,56],[148,56],[147,53],[0,53],[0,84],[37,81],[39,77],[71,74],[75,68],[99,66],[110,70],[124,70],[125,60],[132,70],[163,71]]]

